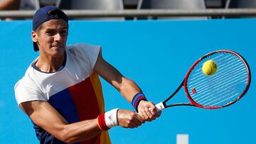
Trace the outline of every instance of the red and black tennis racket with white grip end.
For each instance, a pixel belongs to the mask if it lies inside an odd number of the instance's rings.
[[[218,68],[213,75],[202,71],[203,63],[213,60]],[[199,58],[188,70],[185,79],[166,100],[156,104],[158,111],[172,106],[198,106],[220,109],[240,100],[250,87],[250,67],[237,52],[217,50]],[[190,103],[167,104],[184,87]]]

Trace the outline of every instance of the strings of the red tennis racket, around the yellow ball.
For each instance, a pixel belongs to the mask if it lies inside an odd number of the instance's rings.
[[[203,63],[214,60],[217,72],[206,75]],[[240,57],[230,52],[219,52],[201,60],[187,80],[191,99],[202,106],[225,106],[239,98],[247,86],[247,67]]]

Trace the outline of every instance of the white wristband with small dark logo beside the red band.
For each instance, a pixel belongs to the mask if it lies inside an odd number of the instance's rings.
[[[118,126],[117,111],[118,109],[112,109],[105,113],[105,122],[107,127],[112,128],[114,126]]]

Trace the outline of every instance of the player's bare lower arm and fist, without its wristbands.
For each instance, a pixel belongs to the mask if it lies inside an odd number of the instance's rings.
[[[69,124],[53,106],[46,101],[26,101],[21,103],[33,123],[48,131],[51,135],[65,143],[75,143],[88,140],[99,135],[97,118]],[[137,128],[142,125],[142,118],[134,111],[117,111],[119,126],[124,128]]]

